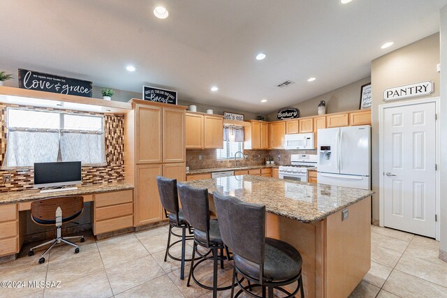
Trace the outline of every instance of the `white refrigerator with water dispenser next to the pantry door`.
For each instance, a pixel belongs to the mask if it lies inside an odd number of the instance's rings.
[[[371,126],[318,129],[318,183],[371,189]]]

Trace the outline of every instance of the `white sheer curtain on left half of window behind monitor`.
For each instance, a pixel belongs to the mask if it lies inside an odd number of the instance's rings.
[[[32,167],[34,163],[57,161],[58,133],[8,131],[5,163],[2,168]]]

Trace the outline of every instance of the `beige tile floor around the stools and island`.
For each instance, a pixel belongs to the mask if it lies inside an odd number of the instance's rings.
[[[371,270],[351,297],[447,297],[447,263],[437,258],[437,241],[371,229]],[[28,257],[29,246],[24,247],[23,256],[0,265],[0,281],[60,281],[60,288],[0,287],[0,297],[212,297],[194,283],[186,287],[179,262],[163,262],[167,236],[167,226],[100,241],[90,235],[79,254],[59,246],[43,265],[37,264],[38,253]],[[191,255],[192,247],[186,251]],[[179,255],[179,246],[172,253]],[[229,285],[231,274],[229,265],[219,269],[219,283]],[[204,264],[197,277],[211,284],[211,264]],[[219,297],[229,297],[229,291]]]

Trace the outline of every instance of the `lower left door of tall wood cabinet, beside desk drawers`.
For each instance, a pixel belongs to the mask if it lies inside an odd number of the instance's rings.
[[[135,225],[156,223],[163,219],[156,177],[163,175],[163,166],[137,165],[135,183]]]

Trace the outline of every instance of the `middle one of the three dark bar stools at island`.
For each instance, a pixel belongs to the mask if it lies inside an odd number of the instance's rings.
[[[192,188],[185,184],[178,184],[180,202],[182,202],[182,208],[184,212],[184,218],[186,221],[194,227],[194,246],[193,255],[191,261],[191,268],[189,269],[189,286],[191,277],[193,281],[202,288],[213,291],[213,297],[217,297],[217,291],[228,290],[231,286],[222,288],[217,287],[217,271],[218,264],[221,261],[221,268],[223,269],[223,260],[226,257],[223,255],[223,241],[221,239],[221,233],[219,230],[219,223],[217,220],[210,220],[210,203],[208,202],[207,189]],[[205,254],[201,254],[198,251],[198,246],[209,248]],[[220,251],[220,255],[219,255]],[[194,264],[194,258],[196,253],[200,255],[201,260]],[[212,256],[209,256],[212,253]],[[213,283],[212,287],[199,283],[194,276],[194,270],[205,260],[213,260]]]

